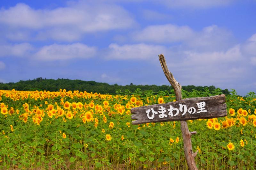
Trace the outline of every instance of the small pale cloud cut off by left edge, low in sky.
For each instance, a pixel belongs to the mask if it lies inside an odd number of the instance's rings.
[[[0,45],[0,56],[27,57],[34,48],[29,43]]]

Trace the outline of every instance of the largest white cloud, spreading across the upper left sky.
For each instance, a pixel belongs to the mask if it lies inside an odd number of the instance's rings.
[[[2,8],[0,16],[0,24],[15,34],[19,35],[20,29],[27,29],[39,32],[39,39],[67,41],[78,40],[84,33],[126,29],[135,23],[120,6],[85,1],[52,10],[33,9],[19,3],[9,9]]]

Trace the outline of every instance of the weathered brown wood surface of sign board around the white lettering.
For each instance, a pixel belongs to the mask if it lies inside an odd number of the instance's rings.
[[[205,102],[204,110],[207,112],[201,113],[194,113],[189,114],[188,111],[185,115],[182,115],[183,112],[179,111],[177,116],[171,117],[168,115],[169,111],[167,109],[170,108],[170,105],[174,108],[180,108],[179,104],[184,104],[187,106],[187,109],[190,107],[194,107],[196,112],[198,112],[198,107],[196,103]],[[210,97],[197,97],[197,98],[187,98],[178,100],[175,102],[169,102],[164,104],[155,104],[149,106],[142,106],[142,107],[133,107],[131,109],[132,119],[137,119],[132,121],[133,125],[142,124],[142,123],[149,123],[149,122],[167,122],[167,121],[180,121],[180,120],[195,120],[195,119],[209,119],[215,117],[224,117],[227,116],[227,106],[226,106],[225,95],[217,95],[217,96],[210,96]],[[153,119],[149,119],[146,113],[146,110],[153,108],[155,111],[158,111],[160,106],[166,108],[166,112],[164,113],[167,117],[159,118],[160,113],[154,116]],[[176,113],[176,111],[174,111]],[[150,116],[152,115],[152,111],[150,111]]]

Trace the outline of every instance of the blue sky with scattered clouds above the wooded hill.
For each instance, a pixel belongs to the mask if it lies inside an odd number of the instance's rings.
[[[255,0],[2,0],[0,82],[42,78],[256,92]]]

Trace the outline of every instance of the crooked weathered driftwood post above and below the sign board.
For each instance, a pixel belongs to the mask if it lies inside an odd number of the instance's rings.
[[[164,71],[164,74],[174,89],[176,100],[181,100],[182,99],[181,85],[175,80],[172,73],[168,70],[164,55],[160,54],[158,55],[158,57],[159,57],[159,61],[161,63],[162,69]],[[188,168],[190,170],[197,169],[195,157],[198,150],[194,153],[192,150],[192,144],[191,144],[191,136],[196,134],[196,131],[189,132],[187,121],[180,121],[180,126],[181,126],[182,138],[184,142],[185,158],[188,164]]]

